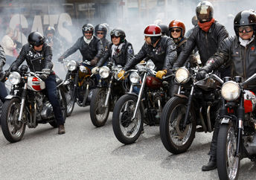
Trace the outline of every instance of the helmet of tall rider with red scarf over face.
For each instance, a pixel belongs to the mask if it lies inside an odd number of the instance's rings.
[[[209,1],[201,1],[196,6],[196,17],[199,22],[209,22],[214,16],[214,7]]]

